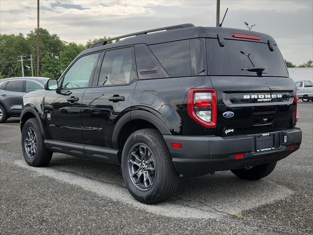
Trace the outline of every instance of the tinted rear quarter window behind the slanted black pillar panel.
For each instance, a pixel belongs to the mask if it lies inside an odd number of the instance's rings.
[[[171,77],[190,76],[189,40],[149,46]]]

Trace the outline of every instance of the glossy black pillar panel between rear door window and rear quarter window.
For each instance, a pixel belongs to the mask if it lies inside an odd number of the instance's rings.
[[[146,44],[136,45],[135,52],[139,79],[169,77]]]

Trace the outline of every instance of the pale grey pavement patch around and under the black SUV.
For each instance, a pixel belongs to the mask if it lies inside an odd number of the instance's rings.
[[[247,181],[245,181],[247,183],[243,183],[243,181],[235,180],[238,184],[227,183],[224,182],[225,180],[227,181],[227,177],[224,175],[221,180],[209,182],[212,184],[210,186],[200,186],[200,188],[196,189],[197,192],[194,191],[195,187],[193,189],[190,188],[190,190],[188,188],[181,190],[180,188],[180,192],[173,196],[174,201],[167,201],[157,205],[145,205],[136,201],[126,188],[117,185],[98,182],[87,177],[63,172],[53,167],[31,167],[23,160],[18,160],[14,163],[20,167],[32,170],[38,175],[48,176],[58,181],[78,186],[99,196],[128,204],[135,209],[175,218],[212,219],[229,214],[235,215],[241,211],[283,199],[293,193],[290,189],[267,180],[261,180],[257,183],[248,183]],[[75,171],[74,168],[72,170]],[[193,180],[194,178],[190,178],[190,181]],[[202,180],[204,179],[202,178]],[[183,184],[188,184],[186,181],[189,181],[189,179],[186,179]]]

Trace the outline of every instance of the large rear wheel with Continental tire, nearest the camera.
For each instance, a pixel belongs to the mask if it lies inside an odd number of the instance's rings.
[[[141,158],[144,155],[145,164]],[[139,202],[155,204],[165,201],[178,187],[179,173],[172,164],[162,135],[156,129],[142,129],[132,133],[124,145],[121,162],[126,188]],[[136,171],[138,173],[132,177]],[[139,183],[135,184],[137,180]]]

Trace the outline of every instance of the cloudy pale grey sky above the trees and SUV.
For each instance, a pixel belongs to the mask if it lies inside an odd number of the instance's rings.
[[[215,26],[215,0],[40,0],[40,26],[67,42],[142,31],[174,24]],[[36,0],[0,0],[0,33],[24,35],[36,25]],[[313,0],[221,0],[224,27],[274,37],[285,59],[313,59]]]

